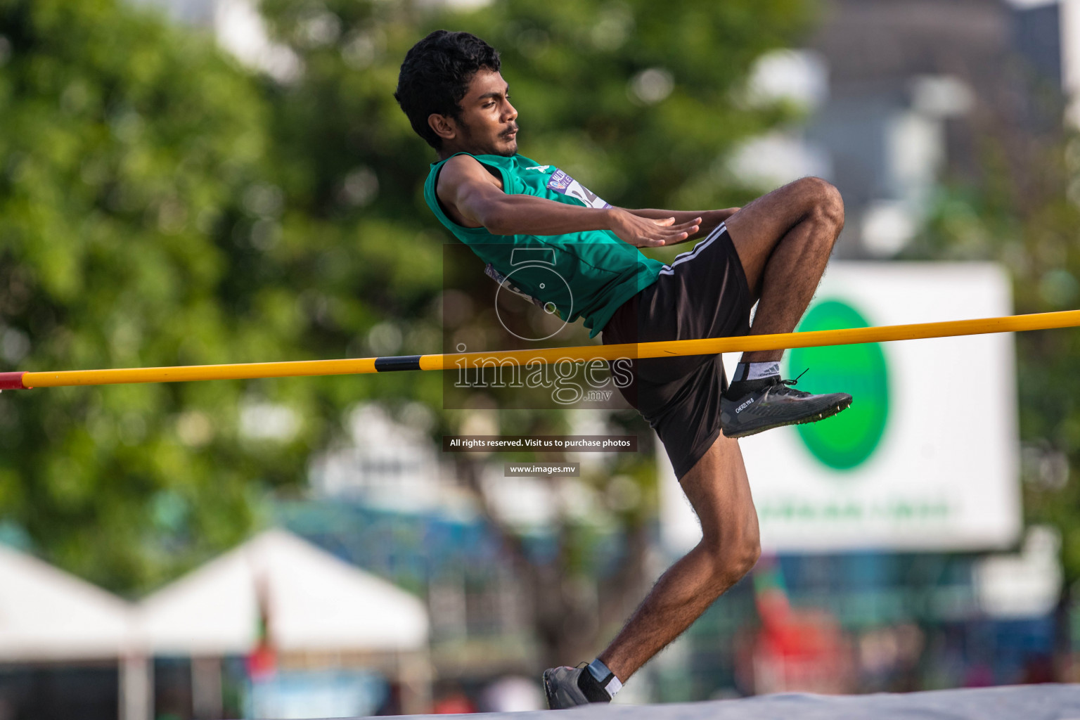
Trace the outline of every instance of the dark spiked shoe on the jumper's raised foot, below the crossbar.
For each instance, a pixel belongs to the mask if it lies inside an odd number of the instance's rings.
[[[812,395],[795,390],[796,380],[775,379],[742,397],[720,397],[720,430],[727,437],[746,437],[781,427],[818,422],[851,406],[851,395]]]

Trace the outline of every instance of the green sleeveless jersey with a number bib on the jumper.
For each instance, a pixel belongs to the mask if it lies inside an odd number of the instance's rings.
[[[541,165],[516,154],[472,157],[499,174],[507,194],[610,207],[554,165]],[[590,338],[604,329],[622,303],[654,283],[664,267],[607,230],[495,235],[486,228],[462,227],[447,217],[435,194],[438,171],[446,160],[432,163],[423,186],[423,198],[438,221],[480,256],[487,266],[485,272],[496,282],[546,307],[549,312],[555,310],[568,323],[584,317]]]

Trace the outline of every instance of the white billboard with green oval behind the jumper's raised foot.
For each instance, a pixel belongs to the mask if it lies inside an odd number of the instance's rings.
[[[1011,313],[991,263],[834,262],[800,330]],[[728,377],[737,354],[726,355]],[[1021,531],[1012,335],[801,349],[798,388],[848,392],[820,423],[740,440],[765,552],[983,549]],[[700,526],[658,452],[663,535],[692,546]]]

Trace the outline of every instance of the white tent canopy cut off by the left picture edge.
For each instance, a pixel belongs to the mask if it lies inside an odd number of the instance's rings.
[[[0,662],[120,657],[130,620],[124,600],[0,545]]]

